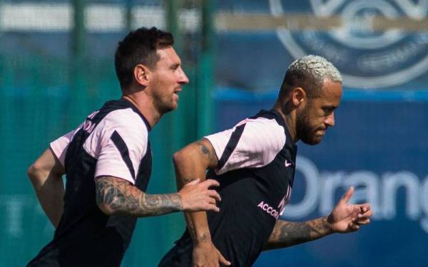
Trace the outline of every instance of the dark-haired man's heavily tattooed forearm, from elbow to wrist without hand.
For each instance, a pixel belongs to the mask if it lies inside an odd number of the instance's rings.
[[[103,177],[96,181],[96,202],[114,214],[157,216],[183,209],[180,194],[145,194],[125,181]]]

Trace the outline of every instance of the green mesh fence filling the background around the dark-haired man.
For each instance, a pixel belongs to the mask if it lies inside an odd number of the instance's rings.
[[[148,186],[148,193],[175,192],[173,152],[208,133],[210,125],[205,115],[210,114],[205,111],[210,109],[210,90],[205,88],[212,84],[206,66],[210,55],[203,54],[204,67],[198,69],[204,48],[195,19],[203,2],[141,0],[123,6],[116,0],[0,0],[0,266],[25,266],[51,241],[54,228],[26,170],[49,142],[107,100],[121,97],[113,53],[126,28],[174,26],[170,31],[179,36],[178,53],[190,84],[180,94],[178,110],[150,133],[153,172]],[[183,8],[189,15],[178,22],[174,12]],[[156,266],[184,227],[183,214],[138,219],[123,266]]]

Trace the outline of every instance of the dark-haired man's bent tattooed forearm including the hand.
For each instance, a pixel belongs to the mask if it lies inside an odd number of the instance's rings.
[[[220,196],[208,187],[218,182],[193,181],[175,194],[146,194],[126,180],[116,177],[97,177],[96,203],[107,215],[158,216],[175,211],[218,211],[215,200]]]

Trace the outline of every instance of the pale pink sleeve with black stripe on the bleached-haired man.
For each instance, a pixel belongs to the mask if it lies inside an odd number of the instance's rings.
[[[217,174],[233,169],[263,167],[285,145],[285,132],[275,120],[246,119],[232,129],[205,137],[218,157]]]

